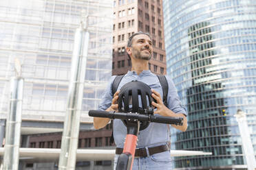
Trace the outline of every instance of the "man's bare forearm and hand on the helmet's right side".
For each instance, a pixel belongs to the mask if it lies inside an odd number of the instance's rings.
[[[169,110],[169,108],[167,108],[164,105],[164,103],[162,102],[160,93],[158,93],[156,90],[153,90],[153,89],[151,89],[151,91],[152,91],[152,97],[154,99],[156,99],[156,102],[157,102],[156,103],[155,101],[152,101],[152,105],[157,108],[157,110],[154,112],[154,114],[160,114],[161,116],[164,116],[164,117],[182,117],[183,125],[172,125],[172,126],[178,130],[181,130],[182,132],[185,132],[188,125],[187,125],[187,120],[186,120],[186,117],[184,116],[184,114],[175,113],[175,112]]]

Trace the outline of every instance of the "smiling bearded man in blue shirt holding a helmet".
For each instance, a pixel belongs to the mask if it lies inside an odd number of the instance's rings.
[[[152,89],[152,97],[156,99],[157,103],[152,101],[152,105],[156,108],[154,114],[160,114],[165,117],[183,117],[183,125],[172,125],[178,130],[186,131],[186,110],[181,106],[177,90],[169,77],[167,82],[169,85],[167,104],[168,108],[164,106],[162,101],[162,87],[158,77],[149,71],[149,60],[153,53],[151,37],[144,32],[133,34],[127,43],[126,51],[131,58],[131,71],[122,78],[118,90],[127,82],[138,80],[149,85]],[[118,93],[113,95],[111,86],[115,76],[111,80],[105,90],[103,99],[98,106],[98,110],[118,111]],[[95,129],[105,127],[110,119],[94,117]],[[116,157],[114,160],[114,169],[116,169],[116,162],[119,154],[122,153],[122,148],[125,142],[126,127],[120,119],[114,119],[114,140],[116,143]],[[162,123],[150,123],[149,127],[141,130],[138,135],[137,148],[140,152],[138,157],[134,158],[133,169],[170,169],[171,156],[169,152],[169,125]],[[121,150],[121,151],[120,151]],[[139,152],[139,151],[138,151]]]

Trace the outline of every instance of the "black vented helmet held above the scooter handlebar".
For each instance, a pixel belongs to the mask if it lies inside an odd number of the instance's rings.
[[[147,84],[138,81],[128,82],[120,89],[118,112],[153,114],[153,107],[151,105],[153,97],[151,97],[151,94],[151,88]],[[122,122],[127,125],[127,120],[122,120]],[[140,130],[144,130],[148,125],[149,121],[140,121]]]

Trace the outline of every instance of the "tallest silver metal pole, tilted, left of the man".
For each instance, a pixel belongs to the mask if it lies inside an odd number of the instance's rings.
[[[87,32],[87,27],[84,28],[83,22],[81,22],[81,26],[76,29],[74,38],[67,112],[61,141],[61,154],[58,162],[58,169],[60,170],[76,168],[76,149],[83,101],[88,43],[89,32]]]

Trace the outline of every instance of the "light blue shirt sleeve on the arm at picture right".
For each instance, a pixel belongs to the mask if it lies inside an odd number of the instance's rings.
[[[184,108],[181,104],[180,98],[177,93],[177,89],[175,88],[175,85],[173,83],[173,80],[171,80],[170,77],[167,77],[168,82],[168,95],[167,95],[167,103],[168,108],[172,110],[175,113],[182,113],[185,116],[187,116],[186,108]]]

